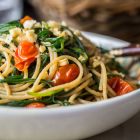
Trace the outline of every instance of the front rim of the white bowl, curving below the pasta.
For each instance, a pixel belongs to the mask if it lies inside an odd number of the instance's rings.
[[[14,113],[58,113],[58,112],[66,112],[66,111],[77,111],[77,110],[83,110],[86,108],[95,108],[95,107],[99,107],[99,106],[104,106],[104,105],[111,105],[113,103],[117,103],[117,102],[121,102],[121,101],[125,101],[125,100],[129,100],[131,97],[137,97],[140,96],[140,89],[134,90],[132,92],[130,92],[129,94],[125,94],[125,95],[121,95],[121,96],[117,96],[117,97],[113,97],[107,100],[102,100],[102,101],[98,101],[98,102],[91,102],[88,104],[78,104],[78,105],[70,105],[70,106],[61,106],[61,107],[56,107],[56,108],[25,108],[25,107],[10,107],[10,106],[0,106],[0,113],[2,113],[3,111],[5,113],[10,113],[13,112]],[[7,112],[8,111],[8,112]]]

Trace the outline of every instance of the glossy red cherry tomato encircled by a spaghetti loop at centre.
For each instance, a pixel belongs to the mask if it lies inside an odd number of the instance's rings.
[[[67,64],[62,66],[56,72],[53,78],[53,85],[61,85],[65,83],[69,83],[77,78],[80,71],[76,64]]]

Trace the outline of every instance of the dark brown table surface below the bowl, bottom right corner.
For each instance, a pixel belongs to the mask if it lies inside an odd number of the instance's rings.
[[[140,112],[125,123],[85,140],[140,140]]]

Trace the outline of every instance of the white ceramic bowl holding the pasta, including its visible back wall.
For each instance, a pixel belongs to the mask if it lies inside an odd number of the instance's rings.
[[[106,47],[128,43],[92,33],[93,42]],[[53,109],[0,107],[0,140],[77,140],[126,121],[140,110],[140,90],[106,101]]]

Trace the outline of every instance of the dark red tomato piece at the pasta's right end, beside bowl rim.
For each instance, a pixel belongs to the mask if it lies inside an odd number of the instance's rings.
[[[113,77],[109,79],[108,84],[118,96],[134,90],[134,88],[129,83],[127,83],[119,77]]]

